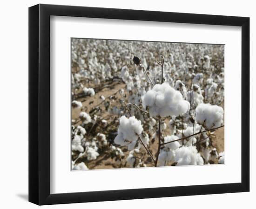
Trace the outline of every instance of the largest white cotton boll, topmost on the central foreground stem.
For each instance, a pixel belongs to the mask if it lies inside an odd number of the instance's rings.
[[[182,98],[181,92],[167,83],[154,85],[141,99],[143,107],[146,109],[148,106],[151,117],[178,116],[190,108],[189,102]]]

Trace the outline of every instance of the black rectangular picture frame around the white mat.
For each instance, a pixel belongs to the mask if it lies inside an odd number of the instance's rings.
[[[241,183],[50,194],[50,16],[242,27]],[[234,84],[235,85],[235,84]],[[38,205],[249,191],[249,18],[60,5],[29,8],[29,201]]]

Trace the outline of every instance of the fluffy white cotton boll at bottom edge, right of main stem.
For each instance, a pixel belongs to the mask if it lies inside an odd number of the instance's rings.
[[[177,165],[197,165],[202,160],[195,146],[183,146],[175,150],[175,162]]]

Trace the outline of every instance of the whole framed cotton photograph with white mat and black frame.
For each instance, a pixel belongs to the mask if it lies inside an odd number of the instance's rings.
[[[29,8],[29,201],[249,191],[249,18]]]

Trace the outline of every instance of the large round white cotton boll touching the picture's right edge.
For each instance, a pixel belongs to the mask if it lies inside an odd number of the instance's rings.
[[[219,127],[223,123],[223,108],[211,104],[199,104],[195,109],[195,120],[207,129]]]

